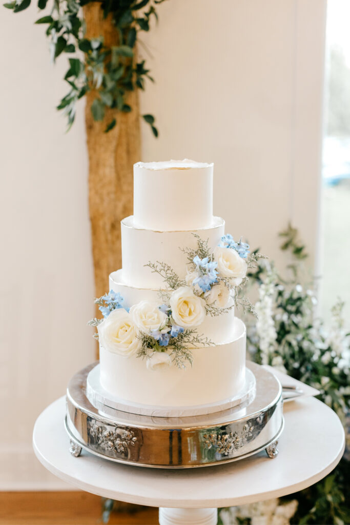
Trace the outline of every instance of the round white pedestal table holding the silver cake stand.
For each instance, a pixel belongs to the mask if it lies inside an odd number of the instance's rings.
[[[261,453],[224,465],[184,470],[122,465],[86,451],[69,453],[63,427],[65,397],[38,417],[35,454],[53,474],[87,492],[160,507],[161,525],[215,525],[217,508],[285,496],[326,476],[340,461],[344,429],[337,415],[313,397],[284,405],[279,455]]]

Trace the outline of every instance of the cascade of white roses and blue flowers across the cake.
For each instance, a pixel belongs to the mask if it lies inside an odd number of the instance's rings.
[[[88,324],[97,327],[94,337],[105,350],[144,358],[149,370],[172,364],[184,369],[187,363],[192,365],[191,349],[214,344],[198,333],[207,315],[219,316],[235,306],[254,312],[241,288],[248,268],[256,267],[264,256],[250,253],[247,243],[236,242],[230,234],[222,236],[213,251],[207,240],[194,236],[196,248],[180,248],[188,259],[184,280],[165,262],[145,265],[167,286],[159,291],[160,301],[143,300],[127,308],[113,290],[95,299],[103,318]]]

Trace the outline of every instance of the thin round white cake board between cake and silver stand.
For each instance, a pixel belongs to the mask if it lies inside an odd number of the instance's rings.
[[[131,401],[125,401],[119,397],[113,396],[101,386],[99,364],[94,366],[89,372],[86,385],[86,395],[88,400],[101,412],[103,412],[103,408],[108,407],[121,410],[122,412],[155,417],[183,417],[213,414],[215,412],[226,410],[227,408],[233,408],[242,403],[250,402],[255,396],[255,392],[256,379],[253,372],[248,368],[246,368],[245,386],[240,392],[227,400],[209,403],[207,405],[179,406],[173,408],[136,404]]]

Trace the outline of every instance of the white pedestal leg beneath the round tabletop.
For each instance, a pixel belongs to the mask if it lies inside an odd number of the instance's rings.
[[[218,509],[177,509],[160,507],[160,525],[216,525]]]

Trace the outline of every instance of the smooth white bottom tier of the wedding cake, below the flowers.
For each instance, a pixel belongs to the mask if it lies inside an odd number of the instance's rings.
[[[100,348],[100,383],[112,397],[157,407],[193,407],[226,402],[246,383],[246,327],[234,321],[234,339],[192,350],[193,365],[149,370],[143,359]]]

